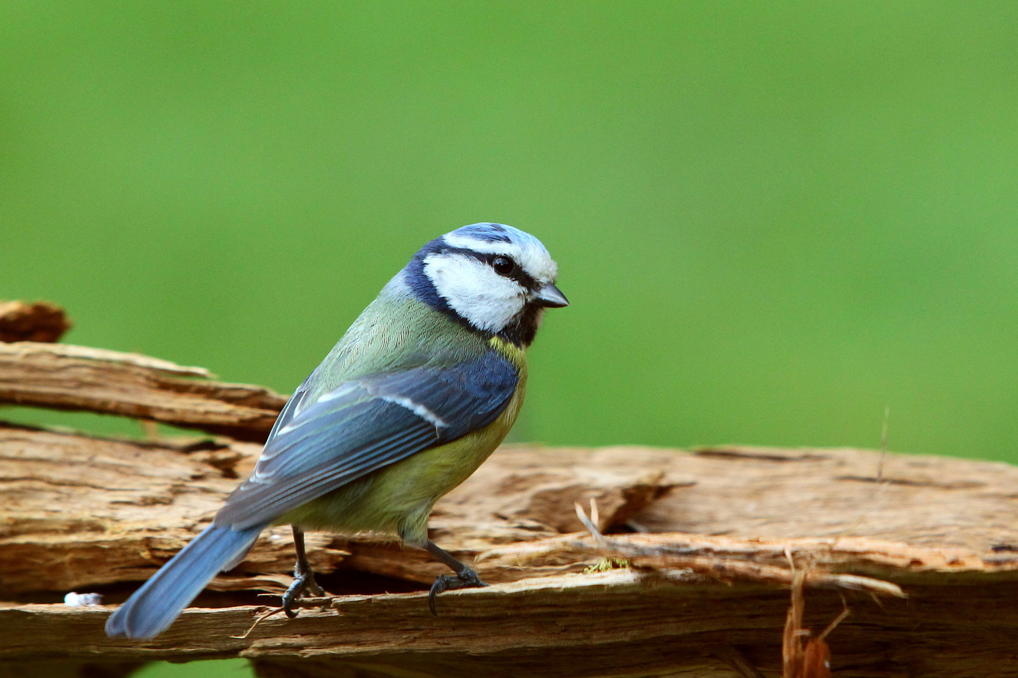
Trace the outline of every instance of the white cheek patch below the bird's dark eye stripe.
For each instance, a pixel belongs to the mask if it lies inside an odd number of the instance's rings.
[[[449,306],[477,329],[497,332],[523,310],[526,290],[471,256],[429,254],[425,274]]]

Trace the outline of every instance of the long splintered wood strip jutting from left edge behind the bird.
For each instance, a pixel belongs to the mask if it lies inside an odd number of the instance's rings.
[[[210,381],[204,368],[87,347],[0,344],[0,404],[149,419],[264,441],[286,397]]]

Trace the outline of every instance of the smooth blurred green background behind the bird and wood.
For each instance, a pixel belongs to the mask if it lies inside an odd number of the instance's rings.
[[[1016,36],[1013,0],[6,0],[0,298],[289,392],[503,222],[573,304],[517,439],[876,446],[887,406],[892,449],[1018,461]]]

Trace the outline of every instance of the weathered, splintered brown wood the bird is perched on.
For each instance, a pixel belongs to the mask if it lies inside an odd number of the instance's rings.
[[[0,345],[6,402],[264,436],[283,398],[209,376]],[[239,656],[264,678],[1018,676],[1018,469],[889,454],[878,478],[857,449],[505,445],[435,507],[432,538],[493,584],[443,594],[437,617],[425,590],[446,569],[425,552],[318,534],[312,563],[346,595],[267,616],[278,598],[256,594],[291,581],[287,528],[151,641],[107,638],[112,605],[56,604],[122,601],[259,451],[0,425],[0,675]]]

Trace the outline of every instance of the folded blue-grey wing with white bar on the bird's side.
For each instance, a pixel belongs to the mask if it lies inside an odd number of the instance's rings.
[[[516,368],[489,351],[456,365],[361,377],[299,413],[294,406],[280,415],[254,472],[230,495],[215,525],[246,530],[270,522],[373,471],[483,428],[502,414],[518,381]],[[305,384],[294,397],[306,397]]]

